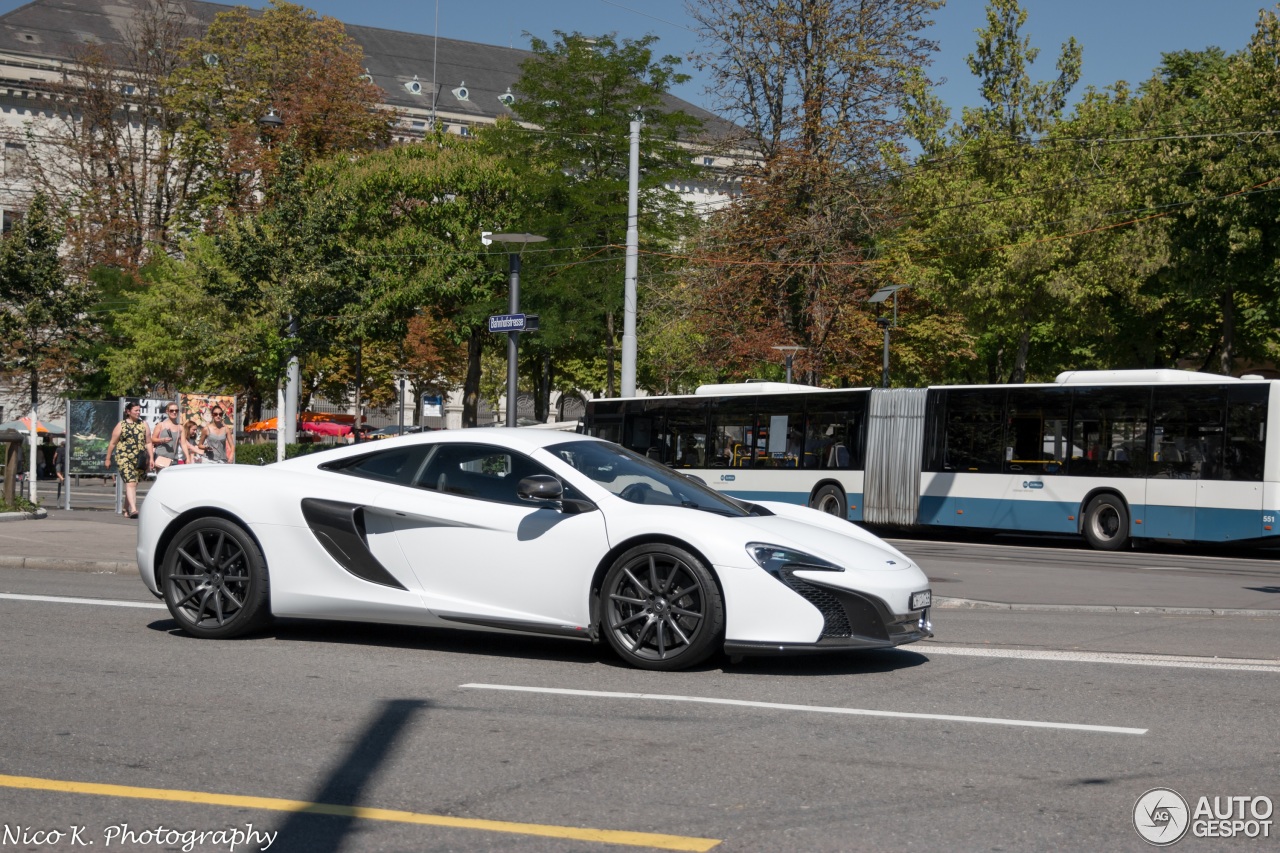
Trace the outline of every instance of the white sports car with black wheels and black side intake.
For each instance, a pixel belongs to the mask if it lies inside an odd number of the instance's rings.
[[[273,615],[484,626],[603,637],[675,670],[932,635],[928,578],[852,524],[548,430],[170,466],[142,505],[138,569],[197,637]]]

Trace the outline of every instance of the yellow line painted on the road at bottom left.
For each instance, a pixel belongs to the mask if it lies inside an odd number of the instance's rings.
[[[339,806],[335,803],[308,803],[301,799],[278,799],[275,797],[210,794],[198,790],[173,790],[169,788],[133,788],[132,785],[104,785],[100,783],[77,783],[64,781],[60,779],[37,779],[33,776],[0,775],[0,788],[51,790],[67,794],[96,794],[99,797],[128,797],[132,799],[160,799],[170,803],[229,806],[232,808],[257,808],[271,812],[360,817],[370,821],[419,824],[422,826],[447,826],[449,829],[484,830],[486,833],[509,833],[515,835],[539,835],[541,838],[559,838],[575,841],[596,841],[600,844],[621,844],[625,847],[648,847],[659,850],[694,850],[700,853],[709,850],[721,843],[719,839],[714,838],[660,835],[655,833],[627,833],[621,830],[602,830],[577,826],[554,826],[550,824],[513,824],[508,821],[489,821],[470,817],[448,817],[445,815],[401,812],[390,808],[366,808],[364,806]]]

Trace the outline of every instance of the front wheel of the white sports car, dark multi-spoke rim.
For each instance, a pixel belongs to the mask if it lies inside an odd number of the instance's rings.
[[[631,666],[682,670],[722,643],[724,602],[694,555],[668,544],[637,546],[604,575],[600,630]]]

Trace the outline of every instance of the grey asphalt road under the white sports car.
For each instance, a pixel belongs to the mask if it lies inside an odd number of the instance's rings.
[[[906,649],[652,674],[470,631],[196,640],[128,575],[0,592],[0,834],[79,831],[5,849],[1139,850],[1151,788],[1280,799],[1275,616],[940,610]]]

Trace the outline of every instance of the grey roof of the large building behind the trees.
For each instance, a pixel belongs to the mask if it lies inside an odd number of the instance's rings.
[[[65,61],[93,41],[123,44],[146,0],[35,0],[0,15],[0,53],[33,65]],[[188,0],[174,3],[198,31],[233,6]],[[511,110],[499,97],[520,77],[520,65],[534,54],[527,50],[481,45],[456,38],[344,24],[360,44],[365,68],[385,92],[384,101],[406,113],[436,114],[454,120],[489,123]],[[433,87],[433,79],[435,81]],[[417,86],[411,86],[412,83]],[[465,85],[465,86],[463,86]],[[465,92],[461,90],[466,90]],[[721,136],[732,126],[714,113],[675,96],[666,96],[671,110],[701,119],[707,131]]]

